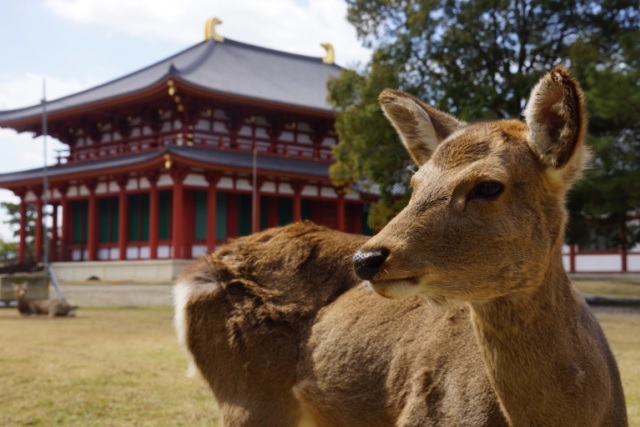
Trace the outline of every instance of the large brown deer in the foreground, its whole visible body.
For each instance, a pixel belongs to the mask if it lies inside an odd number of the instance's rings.
[[[564,198],[588,158],[578,84],[548,73],[525,122],[380,102],[420,169],[378,235],[268,230],[176,284],[180,341],[224,425],[627,425],[614,357],[562,267]],[[358,285],[351,253],[389,299]]]

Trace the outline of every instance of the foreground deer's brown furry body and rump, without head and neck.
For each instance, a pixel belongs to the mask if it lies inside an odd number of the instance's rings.
[[[181,274],[178,334],[225,426],[506,425],[468,309],[373,294],[351,261],[366,239],[297,223]]]

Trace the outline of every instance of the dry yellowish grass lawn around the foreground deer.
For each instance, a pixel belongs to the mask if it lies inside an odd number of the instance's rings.
[[[596,312],[640,427],[640,312]],[[170,308],[81,309],[77,318],[0,310],[3,426],[216,426],[204,382],[184,376]]]

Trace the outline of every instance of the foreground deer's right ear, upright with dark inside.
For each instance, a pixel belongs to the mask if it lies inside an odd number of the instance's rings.
[[[533,88],[524,112],[528,142],[548,168],[573,181],[584,168],[587,118],[582,90],[569,72],[556,67]]]

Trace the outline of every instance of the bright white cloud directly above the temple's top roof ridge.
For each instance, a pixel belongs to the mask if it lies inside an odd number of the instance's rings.
[[[260,46],[322,56],[330,42],[344,66],[366,62],[369,51],[346,21],[344,0],[46,0],[58,16],[107,31],[194,44],[207,18],[217,16],[218,32]]]

